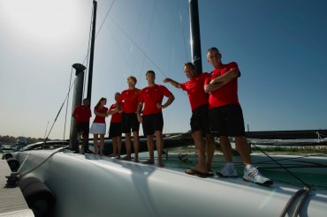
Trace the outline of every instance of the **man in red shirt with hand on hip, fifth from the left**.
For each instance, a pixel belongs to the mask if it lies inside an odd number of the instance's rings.
[[[163,153],[163,129],[164,129],[164,117],[162,109],[167,108],[171,105],[171,102],[175,100],[175,97],[171,92],[161,85],[156,85],[155,71],[147,71],[146,78],[148,80],[148,86],[141,90],[139,96],[139,106],[137,109],[137,118],[139,123],[142,123],[144,136],[147,137],[147,146],[149,153],[149,160],[143,163],[145,164],[154,164],[154,147],[153,147],[153,135],[156,135],[156,151],[158,154],[157,157],[157,166],[164,167],[162,162],[162,153]],[[163,99],[168,97],[166,103],[163,103]],[[144,109],[142,111],[144,104]],[[142,115],[141,115],[142,113]]]

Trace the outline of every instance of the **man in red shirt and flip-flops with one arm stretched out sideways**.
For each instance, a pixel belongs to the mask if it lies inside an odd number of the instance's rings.
[[[211,171],[211,162],[215,152],[215,140],[209,133],[209,94],[204,92],[203,86],[209,73],[195,74],[194,64],[184,64],[184,72],[188,81],[179,84],[173,79],[164,79],[164,83],[171,83],[172,86],[181,88],[187,92],[188,99],[191,104],[191,130],[194,138],[194,145],[198,153],[198,165],[191,169],[186,169],[189,175],[196,175],[201,177],[213,176]],[[205,141],[203,136],[207,138],[208,142],[208,156],[207,162],[205,159]]]

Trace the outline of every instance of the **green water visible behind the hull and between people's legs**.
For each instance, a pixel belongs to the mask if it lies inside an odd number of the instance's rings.
[[[148,153],[139,153],[139,159],[140,161],[147,161]],[[270,160],[267,158],[267,161]],[[309,158],[300,158],[300,161],[297,163],[297,166],[293,166],[293,168],[288,168],[288,170],[293,175],[287,172],[285,169],[280,168],[278,164],[276,164],[274,161],[270,161],[270,167],[259,167],[259,170],[263,176],[269,177],[275,183],[292,184],[299,186],[299,189],[305,186],[313,186],[314,189],[327,191],[327,166],[322,168],[302,168],[303,165],[307,165],[309,161],[311,161]],[[193,168],[197,164],[197,155],[195,153],[168,153],[166,155],[163,155],[163,163],[165,168]],[[223,155],[215,154],[214,159],[212,161],[212,170],[215,172],[215,174],[217,170],[224,167],[224,163],[225,161]],[[259,163],[260,162],[258,161],[258,163],[254,163],[254,165],[260,166]],[[283,165],[284,162],[279,161],[279,163]],[[240,157],[234,157],[234,164],[238,171],[239,177],[241,178],[243,176],[244,166],[243,163],[240,161]],[[273,167],[271,167],[271,165],[273,165]],[[309,171],[312,169],[315,169],[315,171],[313,173],[310,173]]]

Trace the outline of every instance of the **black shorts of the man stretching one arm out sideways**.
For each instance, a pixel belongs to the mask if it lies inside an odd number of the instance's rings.
[[[191,116],[191,130],[202,131],[205,136],[209,133],[209,105],[202,105],[192,111]]]

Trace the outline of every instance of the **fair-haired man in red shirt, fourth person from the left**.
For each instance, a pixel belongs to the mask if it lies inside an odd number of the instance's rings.
[[[140,89],[136,88],[137,79],[133,76],[127,78],[128,89],[123,91],[118,97],[117,104],[121,105],[122,110],[122,131],[125,133],[126,156],[122,159],[131,161],[132,140],[131,130],[133,132],[134,161],[139,161],[139,130],[140,123],[137,120],[136,109],[138,106]]]

